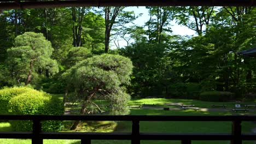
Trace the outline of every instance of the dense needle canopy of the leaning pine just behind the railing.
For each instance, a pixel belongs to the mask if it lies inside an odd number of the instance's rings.
[[[131,73],[129,58],[103,54],[74,65],[63,77],[69,86],[74,87],[70,90],[75,92],[75,97],[82,97],[87,113],[95,112],[97,106],[91,101],[95,98],[110,101],[113,114],[125,114],[130,96],[120,86],[129,84]]]

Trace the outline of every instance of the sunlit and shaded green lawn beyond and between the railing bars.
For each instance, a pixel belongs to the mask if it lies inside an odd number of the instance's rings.
[[[61,95],[54,95],[56,98],[61,98]],[[97,101],[100,104],[106,104],[106,101]],[[197,107],[208,107],[212,104],[225,104],[232,106],[235,103],[212,103],[199,100],[183,100],[183,99],[136,99],[129,102],[130,105],[142,105],[142,104],[157,104],[163,106],[165,103],[183,103],[183,104],[194,104]],[[237,113],[236,113],[237,114]],[[244,115],[245,113],[240,113]],[[248,115],[248,113],[246,113]],[[230,112],[213,112],[213,111],[194,111],[194,110],[155,110],[155,109],[131,109],[131,115],[232,115]],[[63,131],[70,131],[69,128],[72,122],[64,122],[65,128]],[[252,128],[256,125],[252,122],[243,122],[242,131],[243,133],[250,133]],[[10,131],[11,127],[8,122],[0,122],[0,131]],[[103,131],[103,132],[130,132],[131,122],[84,122],[79,125],[79,131]],[[231,122],[141,122],[140,131],[142,132],[172,132],[172,133],[230,133]],[[13,139],[0,139],[0,144],[13,144],[21,143],[28,144],[31,140],[13,140]],[[46,144],[79,144],[79,140],[44,140]],[[126,144],[130,141],[119,141],[119,140],[93,140],[92,143],[115,143],[115,144]],[[141,141],[142,144],[169,144],[169,143],[180,143],[180,141]],[[229,141],[193,141],[193,144],[203,143],[229,143]],[[244,143],[253,143],[247,141]]]

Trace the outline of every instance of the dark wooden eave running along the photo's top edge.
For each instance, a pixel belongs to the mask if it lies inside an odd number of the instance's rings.
[[[256,0],[0,0],[0,9],[107,6],[256,6]]]

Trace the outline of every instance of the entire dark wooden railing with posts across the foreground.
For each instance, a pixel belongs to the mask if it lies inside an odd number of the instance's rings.
[[[141,140],[181,140],[189,144],[192,140],[229,140],[231,144],[242,144],[243,140],[256,140],[256,134],[242,134],[241,122],[256,121],[256,116],[48,116],[48,115],[0,115],[0,120],[31,120],[33,131],[0,132],[0,139],[32,139],[32,144],[41,144],[43,139],[78,139],[82,144],[91,140],[131,140],[139,144]],[[131,133],[77,133],[77,132],[44,132],[42,121],[131,121]],[[141,133],[141,121],[229,121],[232,122],[231,133]]]

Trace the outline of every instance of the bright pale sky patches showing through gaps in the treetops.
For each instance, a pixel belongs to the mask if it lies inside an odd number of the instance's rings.
[[[149,15],[148,15],[148,10],[146,9],[146,7],[127,7],[124,10],[127,11],[134,11],[136,15],[143,13],[142,16],[138,17],[138,19],[136,19],[135,21],[133,21],[133,23],[135,23],[135,25],[138,26],[143,26],[144,23],[146,21],[148,21],[149,19]],[[132,23],[129,23],[128,25],[133,25]],[[185,26],[181,26],[178,25],[175,21],[171,22],[171,28],[172,28],[172,34],[174,35],[195,35],[195,31],[185,27]],[[123,47],[126,45],[126,41],[125,40],[119,40],[119,45],[120,47]],[[114,45],[113,41],[111,43],[111,47],[115,48],[116,46]]]

